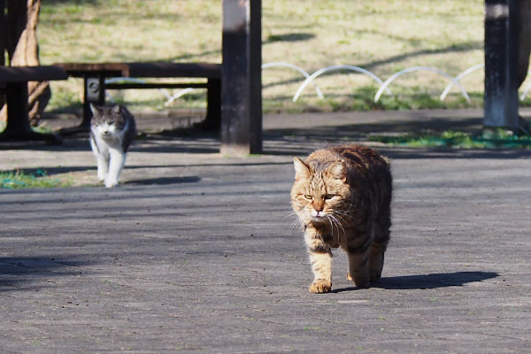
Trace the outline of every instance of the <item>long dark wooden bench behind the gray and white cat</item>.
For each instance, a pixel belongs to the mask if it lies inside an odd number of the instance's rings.
[[[69,76],[81,77],[83,89],[83,120],[81,130],[90,127],[90,104],[103,105],[106,89],[207,89],[207,109],[204,127],[219,129],[221,121],[221,65],[211,63],[59,63]],[[110,78],[204,78],[204,83],[183,82],[125,82],[105,83]]]

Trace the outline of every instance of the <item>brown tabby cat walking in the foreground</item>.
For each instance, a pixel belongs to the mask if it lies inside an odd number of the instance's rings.
[[[381,278],[389,242],[392,178],[373,149],[343,145],[294,158],[291,204],[304,226],[314,280],[312,293],[332,289],[332,248],[348,253],[347,279],[359,288]]]

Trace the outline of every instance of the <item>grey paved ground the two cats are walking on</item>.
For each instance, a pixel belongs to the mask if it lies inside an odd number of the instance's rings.
[[[392,242],[372,289],[312,295],[292,155],[367,131],[474,129],[481,112],[267,116],[265,154],[150,135],[117,189],[0,192],[0,348],[73,352],[531,351],[531,151],[383,149]],[[141,125],[149,120],[142,120]],[[1,148],[0,170],[92,181],[87,142]]]

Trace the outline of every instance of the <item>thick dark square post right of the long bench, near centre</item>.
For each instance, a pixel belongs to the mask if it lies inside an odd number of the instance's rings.
[[[223,0],[221,153],[262,151],[261,0]]]

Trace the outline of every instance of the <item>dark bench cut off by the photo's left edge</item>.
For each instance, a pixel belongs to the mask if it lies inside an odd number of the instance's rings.
[[[29,125],[27,106],[28,81],[66,80],[63,68],[48,66],[0,66],[0,94],[5,95],[7,122],[0,141],[46,141],[60,143],[55,134],[36,133]]]

